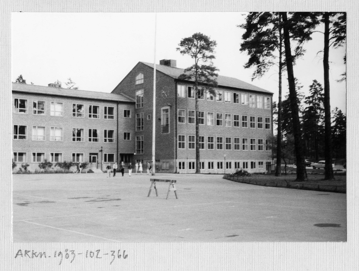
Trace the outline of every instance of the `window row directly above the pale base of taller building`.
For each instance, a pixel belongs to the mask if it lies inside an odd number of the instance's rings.
[[[187,136],[187,149],[196,148],[195,136]],[[207,144],[206,144],[207,143]],[[234,137],[199,137],[199,148],[208,150],[226,150],[226,151],[270,151],[270,142],[268,139],[239,138]],[[186,149],[186,136],[178,135],[178,149]]]

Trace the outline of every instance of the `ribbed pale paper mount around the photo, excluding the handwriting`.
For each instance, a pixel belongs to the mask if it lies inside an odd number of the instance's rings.
[[[348,241],[345,243],[12,243],[11,237],[11,12],[346,11],[348,125]],[[80,1],[0,2],[0,270],[359,270],[358,261],[358,3],[357,1]],[[19,33],[20,34],[20,33]],[[14,259],[18,249],[125,249],[128,258]]]

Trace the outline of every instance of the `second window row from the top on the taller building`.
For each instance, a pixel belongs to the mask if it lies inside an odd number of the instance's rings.
[[[264,123],[263,123],[264,119]],[[186,110],[185,109],[178,109],[178,123],[186,123]],[[249,126],[248,126],[249,121]],[[199,111],[198,112],[198,122],[200,125],[205,125],[205,112]],[[195,111],[188,110],[187,113],[187,123],[195,124]],[[232,127],[232,114],[223,114],[223,113],[214,113],[214,112],[207,112],[207,125],[216,125],[216,126],[223,126]],[[242,127],[242,128],[258,128],[263,129],[263,124],[265,129],[271,128],[271,120],[269,117],[255,117],[248,115],[240,115],[233,114],[233,127]]]

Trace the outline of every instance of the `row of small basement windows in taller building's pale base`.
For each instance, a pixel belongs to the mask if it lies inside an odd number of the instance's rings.
[[[185,170],[186,169],[186,164],[187,164],[187,169],[188,170],[195,170],[196,169],[196,162],[185,162],[185,161],[180,161],[178,162],[178,170]],[[251,169],[255,169],[255,168],[259,168],[259,169],[264,169],[264,162],[260,161],[256,164],[255,161],[243,161],[243,162],[234,162],[234,169],[248,169],[250,166]],[[270,162],[266,162],[266,165],[270,165]],[[216,168],[215,168],[216,165]],[[256,167],[258,166],[258,167]],[[207,168],[205,168],[205,162],[201,161],[200,162],[200,169],[204,170],[204,169],[208,169],[208,170],[222,170],[223,169],[223,162],[220,161],[208,161],[207,162]],[[231,170],[232,169],[232,161],[227,161],[225,162],[225,169]]]

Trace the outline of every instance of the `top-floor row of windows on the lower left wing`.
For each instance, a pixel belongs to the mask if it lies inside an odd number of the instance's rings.
[[[33,100],[33,115],[46,115],[46,101]],[[27,99],[14,99],[14,113],[28,114],[28,100]],[[88,118],[100,119],[100,106],[88,105]],[[50,116],[63,117],[64,116],[64,103],[50,102]],[[85,105],[72,104],[72,117],[84,118]],[[124,118],[131,118],[131,110],[123,110]],[[115,119],[115,107],[103,106],[103,119]]]

